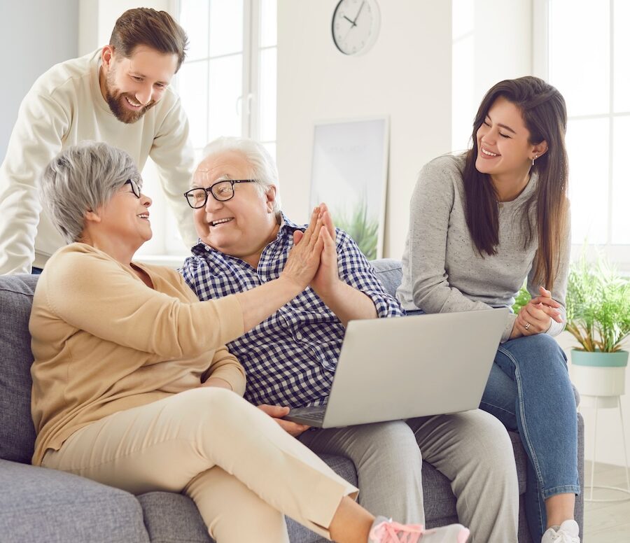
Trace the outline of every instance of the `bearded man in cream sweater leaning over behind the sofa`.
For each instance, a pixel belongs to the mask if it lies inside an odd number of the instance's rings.
[[[52,66],[28,92],[0,167],[0,274],[38,272],[61,235],[42,211],[38,176],[52,157],[79,141],[105,141],[139,169],[158,166],[184,241],[196,239],[181,199],[193,173],[188,118],[169,87],[188,38],[165,11],[125,11],[109,45]]]

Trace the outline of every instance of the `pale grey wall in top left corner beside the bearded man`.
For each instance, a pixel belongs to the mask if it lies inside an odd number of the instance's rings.
[[[22,99],[52,65],[77,56],[77,41],[78,0],[0,0],[0,162]]]

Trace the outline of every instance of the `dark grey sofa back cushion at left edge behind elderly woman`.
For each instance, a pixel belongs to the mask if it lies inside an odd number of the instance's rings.
[[[0,458],[30,463],[35,443],[31,419],[29,316],[38,276],[0,276]]]

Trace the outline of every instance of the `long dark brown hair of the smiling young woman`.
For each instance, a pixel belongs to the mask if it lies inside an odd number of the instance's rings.
[[[560,246],[566,232],[568,199],[568,162],[566,105],[562,94],[542,79],[527,76],[508,79],[494,85],[482,100],[472,129],[472,149],[468,151],[463,171],[466,195],[466,222],[470,236],[481,255],[496,254],[498,246],[498,202],[489,174],[475,167],[477,160],[477,130],[498,97],[504,97],[521,111],[529,131],[529,143],[546,141],[548,150],[538,157],[532,172],[538,173],[538,183],[526,202],[521,220],[526,247],[538,236],[538,252],[533,262],[535,281],[551,290],[559,262]],[[535,220],[535,224],[533,221]]]

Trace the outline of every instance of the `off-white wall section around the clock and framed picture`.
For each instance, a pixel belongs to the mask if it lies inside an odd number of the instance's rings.
[[[277,157],[283,209],[308,218],[314,122],[388,115],[385,255],[400,258],[425,162],[451,146],[449,1],[381,0],[372,50],[346,57],[330,33],[335,0],[279,0]]]

